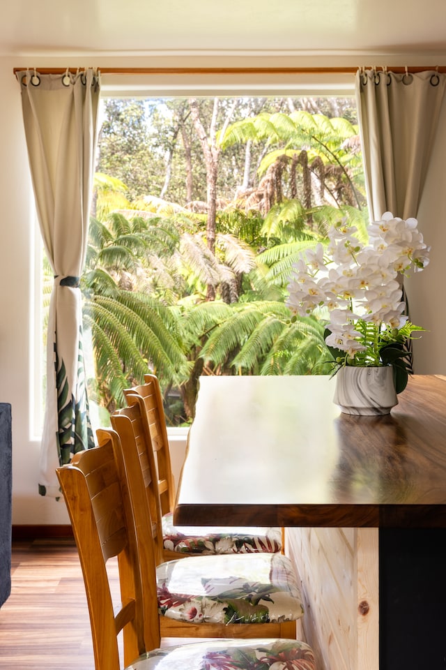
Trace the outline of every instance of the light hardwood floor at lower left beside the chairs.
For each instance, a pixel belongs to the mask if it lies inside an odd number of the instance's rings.
[[[110,574],[115,593],[117,568]],[[0,609],[0,669],[94,670],[84,581],[72,539],[13,542]]]

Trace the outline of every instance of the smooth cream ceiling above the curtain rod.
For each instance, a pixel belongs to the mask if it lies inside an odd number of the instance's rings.
[[[408,65],[446,64],[444,0],[0,1],[1,55],[409,54]]]

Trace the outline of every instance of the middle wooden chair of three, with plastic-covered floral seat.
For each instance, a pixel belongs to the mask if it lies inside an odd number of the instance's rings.
[[[155,544],[162,636],[295,638],[302,601],[291,561],[282,553],[162,562],[157,474],[139,404],[114,412],[111,421],[120,437],[135,524]]]

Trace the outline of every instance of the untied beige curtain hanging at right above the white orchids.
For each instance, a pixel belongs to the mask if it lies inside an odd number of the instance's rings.
[[[358,70],[355,92],[371,221],[417,216],[446,75]]]

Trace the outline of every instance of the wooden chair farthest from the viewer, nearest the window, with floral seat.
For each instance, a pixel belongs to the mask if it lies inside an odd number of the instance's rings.
[[[179,528],[174,526],[174,477],[162,404],[160,383],[155,375],[144,375],[144,384],[125,389],[128,405],[139,403],[144,430],[151,438],[158,473],[158,489],[164,537],[164,558],[209,553],[268,553],[282,551],[282,528]]]

